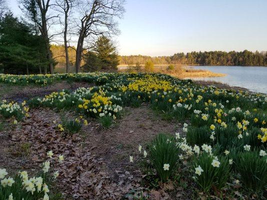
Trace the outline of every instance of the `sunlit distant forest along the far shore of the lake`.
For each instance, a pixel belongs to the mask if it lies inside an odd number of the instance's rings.
[[[123,55],[120,64],[144,64],[152,60],[154,64],[196,64],[196,65],[250,65],[267,66],[267,51],[192,51],[175,53],[172,56]]]

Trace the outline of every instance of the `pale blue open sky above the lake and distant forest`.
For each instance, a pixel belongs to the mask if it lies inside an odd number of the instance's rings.
[[[125,9],[115,38],[121,55],[267,50],[267,0],[127,0]]]

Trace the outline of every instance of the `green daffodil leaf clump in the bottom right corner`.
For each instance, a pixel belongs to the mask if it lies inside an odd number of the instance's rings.
[[[258,150],[239,152],[236,170],[241,175],[245,187],[254,191],[264,189],[267,185],[267,156],[260,157]]]

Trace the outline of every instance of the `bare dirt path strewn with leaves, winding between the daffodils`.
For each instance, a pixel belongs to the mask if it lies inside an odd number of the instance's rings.
[[[60,113],[32,109],[30,118],[0,132],[0,167],[36,171],[46,160],[46,152],[53,150],[55,155],[65,156],[62,164],[55,161],[54,168],[60,171],[58,187],[67,199],[121,198],[131,189],[142,188],[138,145],[144,146],[159,132],[174,133],[175,128],[181,128],[163,121],[146,105],[125,109],[112,128],[104,129],[89,120],[81,133],[68,136],[57,128]],[[72,112],[65,115],[75,118]],[[28,150],[28,154],[16,153]],[[135,163],[129,162],[129,155],[134,156]]]

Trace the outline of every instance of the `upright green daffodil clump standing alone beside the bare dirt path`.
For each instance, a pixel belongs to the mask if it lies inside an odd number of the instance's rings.
[[[165,182],[171,178],[177,168],[177,155],[179,148],[175,139],[160,133],[149,145],[151,164],[156,169],[157,175]]]

